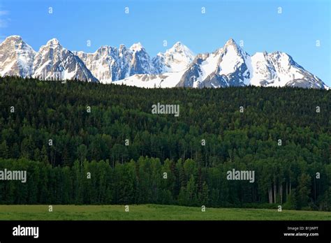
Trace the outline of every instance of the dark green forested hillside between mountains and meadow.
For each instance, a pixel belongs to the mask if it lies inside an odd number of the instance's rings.
[[[179,105],[179,117],[152,114],[156,103]],[[0,203],[330,211],[330,111],[321,89],[0,78],[0,170],[28,175],[0,181]],[[229,181],[233,168],[255,182]]]

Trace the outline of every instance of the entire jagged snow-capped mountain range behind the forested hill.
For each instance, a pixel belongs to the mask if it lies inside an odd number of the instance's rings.
[[[151,58],[140,43],[129,48],[103,45],[94,53],[85,53],[66,50],[52,39],[36,52],[20,36],[9,36],[0,44],[0,75],[150,88],[255,85],[329,89],[285,52],[251,56],[233,39],[212,53],[197,55],[177,42]]]

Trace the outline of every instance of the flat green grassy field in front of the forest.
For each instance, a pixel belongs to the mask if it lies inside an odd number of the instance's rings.
[[[0,205],[0,220],[331,220],[331,212],[172,205]]]

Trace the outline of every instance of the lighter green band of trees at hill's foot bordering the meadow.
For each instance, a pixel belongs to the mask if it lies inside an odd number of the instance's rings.
[[[330,211],[331,190],[318,199],[319,207],[311,204],[312,186],[319,190],[331,178],[311,184],[315,168],[293,165],[293,189],[272,205],[266,205],[267,189],[274,175],[263,171],[281,170],[277,161],[260,160],[256,165],[222,163],[202,168],[193,159],[161,163],[159,159],[140,157],[138,161],[116,163],[109,161],[75,161],[72,167],[52,167],[50,164],[27,159],[0,159],[0,170],[27,170],[27,182],[0,183],[0,202],[4,204],[141,204],[189,205],[209,207],[270,207],[283,205],[286,209],[321,209]],[[256,183],[229,181],[226,172],[233,168],[256,170]],[[313,173],[313,176],[311,176]],[[277,175],[281,177],[281,175]],[[286,201],[283,203],[281,200]]]

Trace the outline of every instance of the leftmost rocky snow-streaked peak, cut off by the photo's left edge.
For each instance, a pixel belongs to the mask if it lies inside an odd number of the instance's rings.
[[[20,36],[7,37],[0,44],[0,75],[30,76],[35,54]]]

